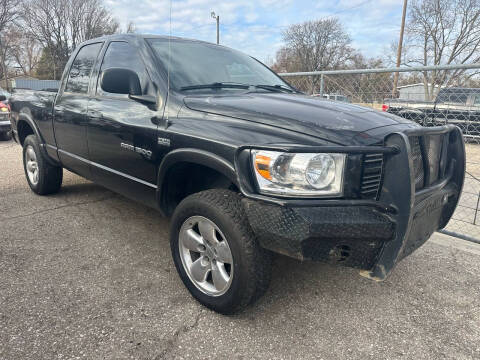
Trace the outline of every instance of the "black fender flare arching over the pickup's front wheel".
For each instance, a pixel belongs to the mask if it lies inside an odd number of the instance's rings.
[[[203,165],[205,167],[218,171],[220,174],[227,177],[236,186],[238,186],[239,184],[235,167],[232,163],[225,160],[223,157],[209,151],[193,148],[172,150],[167,155],[165,155],[158,168],[157,202],[162,211],[164,211],[165,209],[164,182],[168,171],[178,163],[192,163]]]

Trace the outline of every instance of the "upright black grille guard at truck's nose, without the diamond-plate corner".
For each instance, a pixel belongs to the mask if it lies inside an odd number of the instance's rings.
[[[415,191],[412,149],[408,137],[439,134],[448,136],[445,176],[431,186]],[[374,280],[384,280],[398,261],[447,225],[460,199],[465,178],[465,144],[462,132],[456,126],[394,133],[385,139],[385,145],[401,149],[385,162],[384,182],[379,197],[380,202],[397,208],[394,214],[390,214],[396,231],[395,237],[385,242],[373,268],[361,273]]]

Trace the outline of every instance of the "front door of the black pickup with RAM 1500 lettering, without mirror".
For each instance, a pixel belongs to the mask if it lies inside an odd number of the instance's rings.
[[[142,94],[156,96],[138,49],[128,42],[108,44],[98,79],[109,68],[135,71]],[[162,112],[126,94],[105,92],[97,81],[89,103],[87,135],[95,181],[127,196],[128,192],[140,195],[142,188],[156,188],[157,119]]]

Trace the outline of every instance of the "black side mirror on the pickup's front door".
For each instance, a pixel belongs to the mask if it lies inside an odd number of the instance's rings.
[[[140,79],[135,71],[110,68],[102,73],[100,86],[103,91],[113,94],[142,95]]]

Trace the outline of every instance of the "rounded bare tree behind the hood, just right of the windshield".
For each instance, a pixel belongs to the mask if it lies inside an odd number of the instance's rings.
[[[350,36],[337,18],[307,21],[283,32],[285,46],[277,53],[277,66],[286,71],[339,69],[351,59]],[[312,90],[318,76],[312,77]]]

